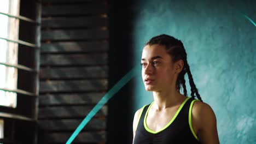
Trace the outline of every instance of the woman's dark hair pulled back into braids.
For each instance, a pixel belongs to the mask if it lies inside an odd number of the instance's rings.
[[[151,38],[146,44],[146,45],[154,45],[154,44],[158,44],[158,45],[164,45],[166,47],[167,53],[169,53],[169,55],[172,56],[172,61],[173,62],[177,62],[180,59],[183,60],[184,62],[184,67],[181,71],[181,73],[179,73],[178,77],[177,77],[177,81],[176,81],[176,89],[178,89],[178,91],[180,91],[181,86],[183,87],[183,93],[185,96],[188,96],[187,94],[187,88],[185,85],[185,79],[184,79],[184,75],[186,73],[188,73],[188,77],[189,77],[189,84],[191,87],[191,97],[201,100],[200,94],[198,93],[198,90],[195,86],[194,80],[193,80],[193,76],[191,74],[190,68],[189,68],[189,64],[187,61],[187,53],[184,49],[183,43],[181,40],[178,40],[170,35],[167,34],[161,34],[158,35],[156,37]]]

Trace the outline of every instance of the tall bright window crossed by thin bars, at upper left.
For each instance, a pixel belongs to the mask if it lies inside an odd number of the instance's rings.
[[[17,95],[8,90],[17,89],[18,69],[10,67],[18,64],[18,44],[9,40],[19,39],[20,0],[2,0],[0,4],[0,105],[16,107]]]

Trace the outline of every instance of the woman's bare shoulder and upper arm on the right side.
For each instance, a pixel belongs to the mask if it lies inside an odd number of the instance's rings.
[[[197,131],[201,143],[219,143],[217,120],[211,106],[201,101],[195,101],[192,109],[192,125]]]

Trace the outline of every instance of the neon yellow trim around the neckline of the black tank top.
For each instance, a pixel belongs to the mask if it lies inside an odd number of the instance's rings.
[[[158,131],[153,131],[153,130],[149,129],[149,128],[148,128],[148,125],[147,125],[147,123],[146,123],[146,118],[147,118],[147,116],[148,116],[148,111],[149,111],[150,107],[152,106],[152,104],[154,103],[154,101],[153,101],[153,102],[149,105],[148,110],[147,110],[147,112],[146,112],[146,115],[145,115],[145,117],[144,117],[144,127],[145,127],[145,129],[146,129],[149,133],[152,133],[152,134],[156,134],[156,133],[159,133],[159,132],[162,131],[162,130],[165,130],[167,127],[169,127],[169,125],[172,124],[172,122],[173,122],[174,119],[178,116],[178,114],[179,114],[179,112],[181,111],[182,107],[185,105],[185,103],[186,103],[188,100],[189,100],[189,97],[183,101],[183,103],[181,104],[181,106],[179,106],[178,111],[175,113],[175,115],[173,116],[173,118],[171,119],[171,121],[170,121],[164,128],[161,128],[161,129],[158,130]]]

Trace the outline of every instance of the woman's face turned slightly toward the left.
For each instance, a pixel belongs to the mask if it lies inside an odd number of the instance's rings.
[[[165,46],[146,45],[142,51],[142,79],[147,91],[170,89],[176,83],[174,63]]]

